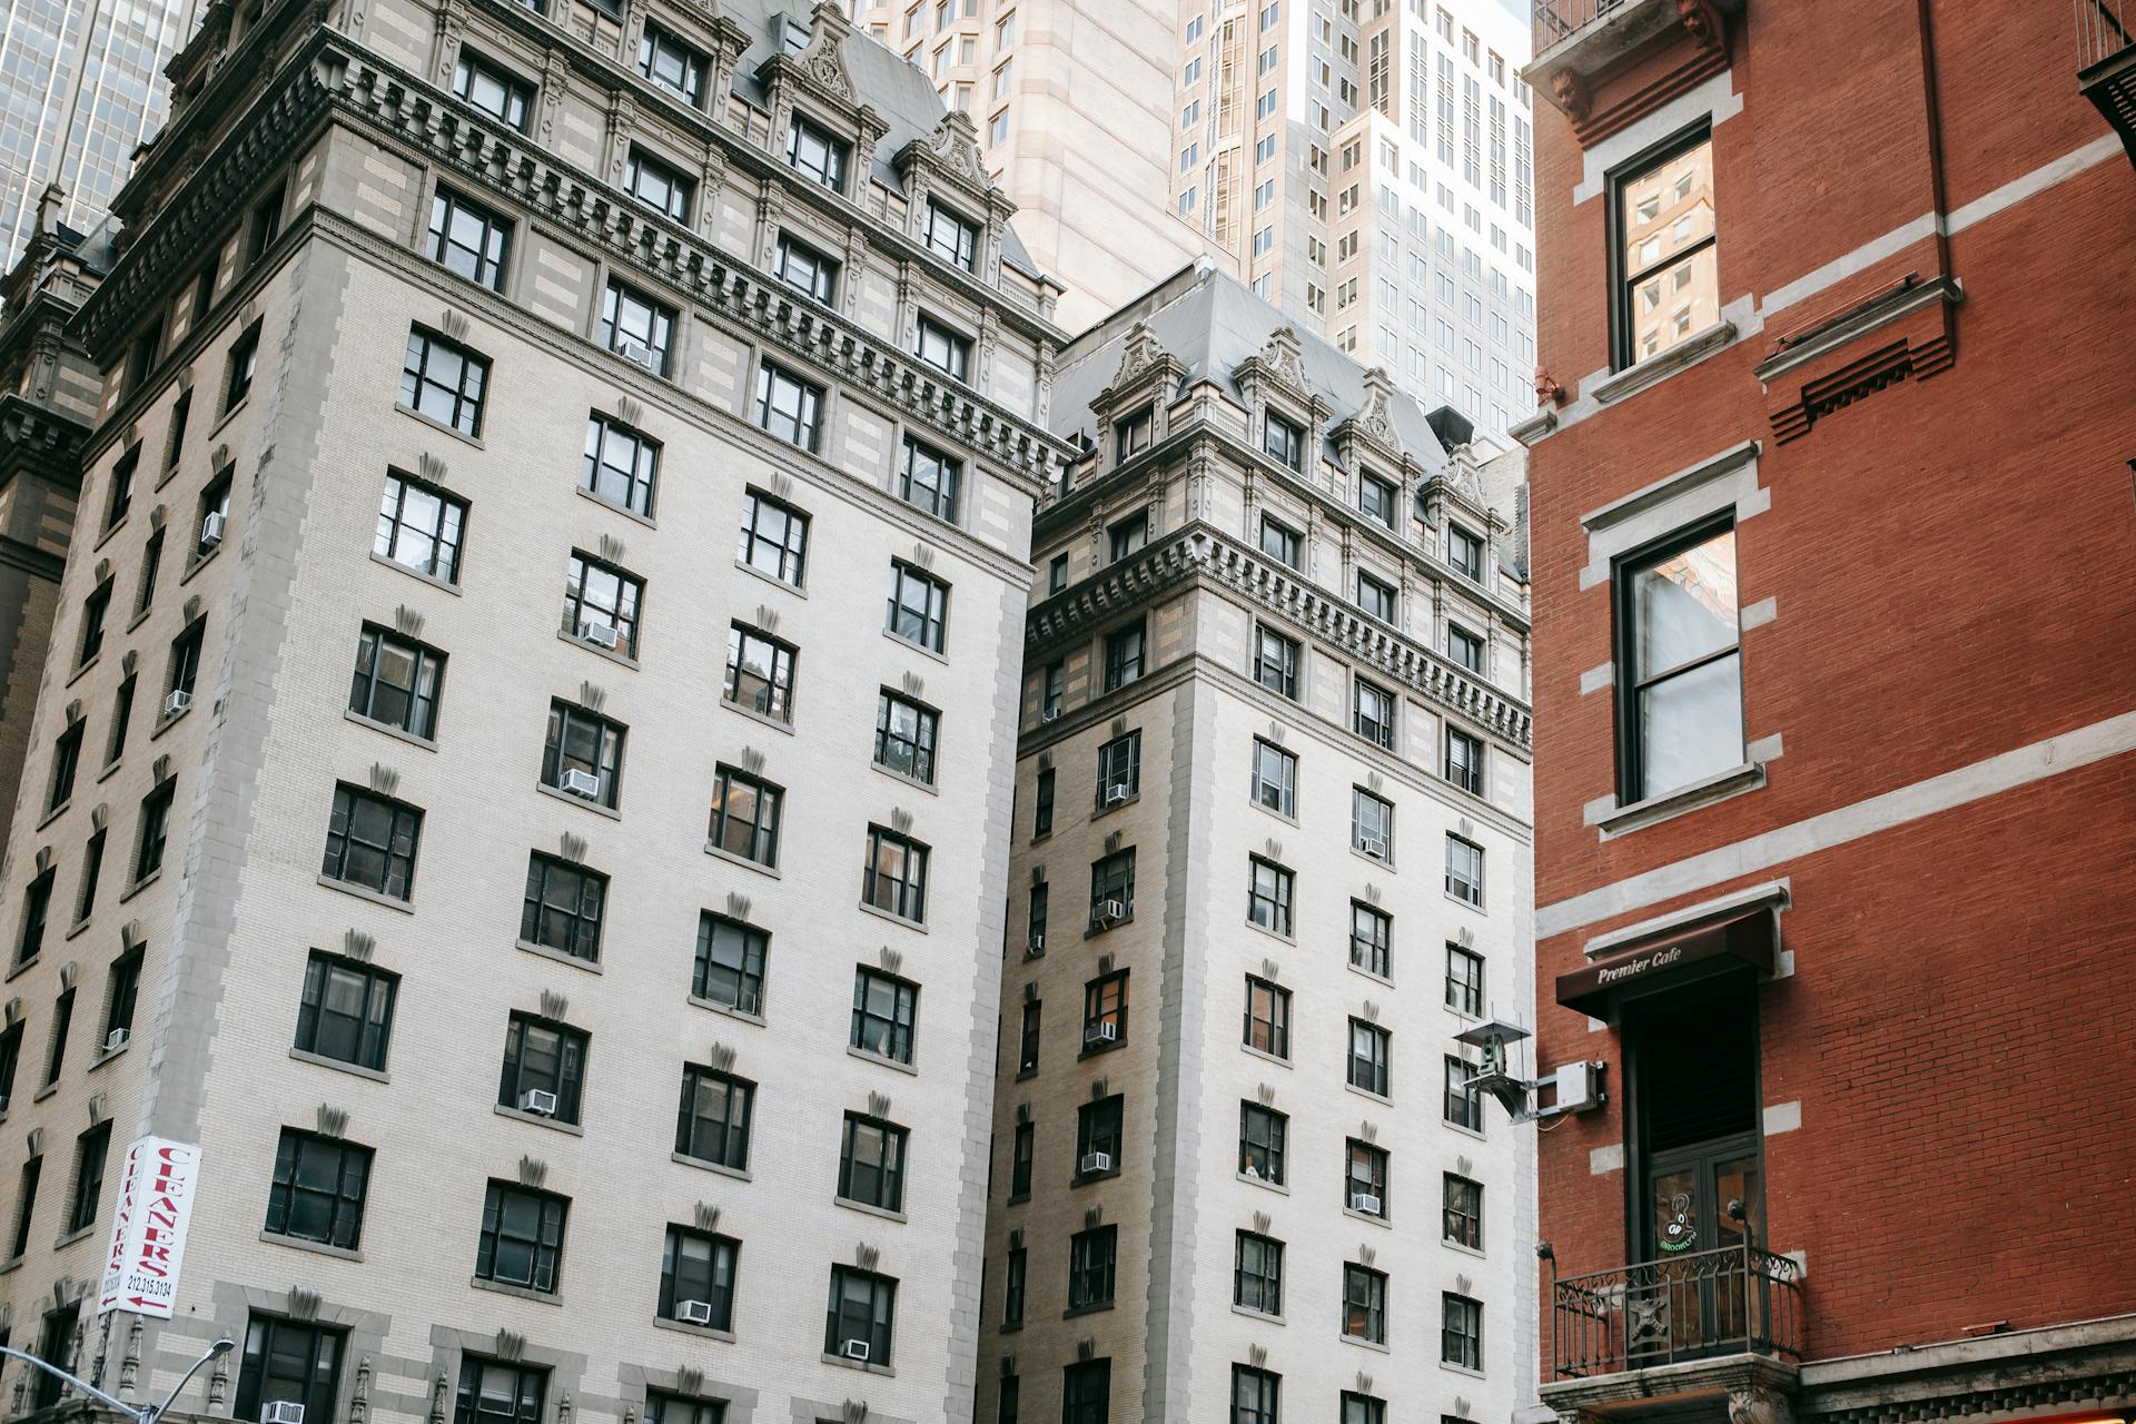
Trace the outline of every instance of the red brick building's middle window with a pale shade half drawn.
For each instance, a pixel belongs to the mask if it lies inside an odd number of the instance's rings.
[[[1743,762],[1737,542],[1705,523],[1617,566],[1621,803]]]

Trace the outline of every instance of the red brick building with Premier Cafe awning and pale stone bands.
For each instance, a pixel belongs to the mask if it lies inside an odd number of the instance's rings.
[[[1564,1420],[2136,1409],[2123,19],[1538,2]]]

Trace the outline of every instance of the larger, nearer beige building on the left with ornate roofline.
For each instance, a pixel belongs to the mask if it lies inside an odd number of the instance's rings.
[[[173,94],[9,705],[0,1330],[143,1403],[229,1334],[248,1424],[963,1424],[1066,455],[968,120],[763,0],[216,4]],[[169,1322],[96,1313],[143,1136]]]

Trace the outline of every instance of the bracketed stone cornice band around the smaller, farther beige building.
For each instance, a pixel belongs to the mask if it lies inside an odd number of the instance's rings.
[[[1089,638],[1156,596],[1190,583],[1243,600],[1271,621],[1333,647],[1523,754],[1534,747],[1525,702],[1200,521],[1151,540],[1132,557],[1032,608],[1025,651],[1032,662],[1045,662],[1053,647]]]

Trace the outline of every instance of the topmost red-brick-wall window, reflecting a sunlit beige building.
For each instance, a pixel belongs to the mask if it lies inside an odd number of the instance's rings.
[[[1705,126],[1611,177],[1611,237],[1619,369],[1719,320],[1713,137]]]

